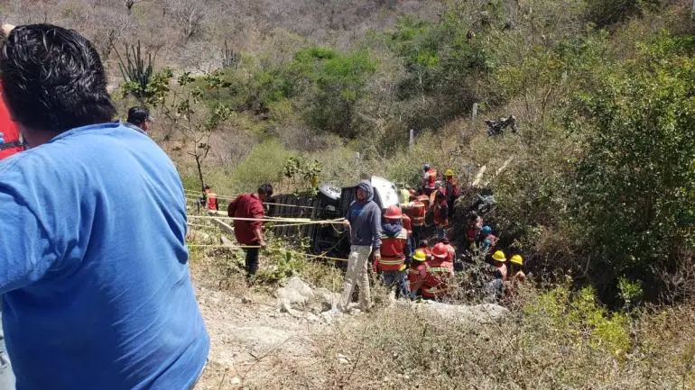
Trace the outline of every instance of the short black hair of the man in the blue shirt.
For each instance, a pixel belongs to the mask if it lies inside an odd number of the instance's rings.
[[[65,132],[116,115],[97,50],[78,32],[15,27],[0,50],[0,72],[14,121],[32,130]]]

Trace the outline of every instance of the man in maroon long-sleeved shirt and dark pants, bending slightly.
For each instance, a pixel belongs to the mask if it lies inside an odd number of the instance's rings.
[[[246,247],[246,284],[254,284],[255,273],[258,271],[258,251],[265,248],[263,237],[263,203],[273,196],[273,186],[270,183],[258,187],[255,194],[242,194],[227,206],[227,215],[232,218],[242,218],[234,221],[234,236]]]

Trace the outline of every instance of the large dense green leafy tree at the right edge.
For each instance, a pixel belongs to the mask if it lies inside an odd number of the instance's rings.
[[[695,253],[693,50],[662,35],[576,95],[570,129],[589,136],[572,209],[604,286],[623,275],[655,286],[654,271]]]

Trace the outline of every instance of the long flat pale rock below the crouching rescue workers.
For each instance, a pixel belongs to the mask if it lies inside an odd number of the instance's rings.
[[[456,322],[492,323],[509,315],[509,310],[499,304],[440,304],[425,301],[422,304],[412,304],[413,310],[419,313],[435,314],[444,320]]]

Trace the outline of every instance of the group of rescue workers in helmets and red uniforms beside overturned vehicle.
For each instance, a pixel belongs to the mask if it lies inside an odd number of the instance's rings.
[[[452,169],[444,172],[444,180],[429,165],[422,170],[420,188],[401,190],[401,204],[388,207],[382,217],[381,258],[373,262],[373,270],[385,286],[395,288],[396,297],[442,300],[452,295],[455,264],[461,263],[448,237],[460,192]],[[466,237],[460,240],[462,251],[467,258],[493,266],[486,296],[498,301],[525,280],[524,258],[514,254],[507,259],[496,248],[498,239],[480,215],[468,213],[467,220]],[[431,228],[432,246],[428,240]]]

